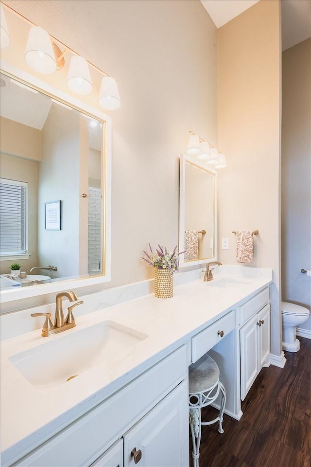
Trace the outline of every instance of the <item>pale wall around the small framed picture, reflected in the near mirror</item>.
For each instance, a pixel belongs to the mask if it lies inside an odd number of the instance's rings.
[[[52,273],[53,278],[77,276],[79,271],[80,119],[78,112],[52,104],[42,128],[42,162],[38,174],[38,262],[39,266],[57,267],[57,272]],[[86,147],[88,150],[87,144]],[[45,230],[44,203],[59,199],[62,201],[62,230]],[[47,274],[51,275],[50,272]]]

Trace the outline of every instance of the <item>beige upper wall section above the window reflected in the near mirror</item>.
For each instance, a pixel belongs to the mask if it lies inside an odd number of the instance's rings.
[[[1,143],[4,154],[41,160],[41,131],[5,117],[0,117]]]

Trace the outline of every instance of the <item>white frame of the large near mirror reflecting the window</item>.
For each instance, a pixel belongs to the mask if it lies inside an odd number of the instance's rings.
[[[103,123],[103,184],[104,184],[104,198],[105,203],[103,206],[103,235],[104,235],[104,248],[103,248],[103,274],[85,277],[76,277],[74,279],[57,280],[56,282],[49,282],[47,284],[38,284],[30,287],[14,288],[14,290],[0,290],[0,302],[7,303],[15,300],[37,297],[49,293],[60,292],[62,290],[77,289],[79,287],[92,286],[96,284],[103,284],[111,280],[111,117],[104,114],[100,110],[88,106],[87,104],[79,101],[75,97],[57,90],[49,84],[41,81],[35,76],[27,72],[11,66],[7,62],[0,60],[0,71],[16,79],[21,83],[43,92],[50,97],[55,97],[64,104],[69,105],[76,110],[96,118]]]

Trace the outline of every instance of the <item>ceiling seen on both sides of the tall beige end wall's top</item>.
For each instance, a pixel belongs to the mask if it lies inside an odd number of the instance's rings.
[[[217,28],[259,0],[201,0]],[[282,50],[311,37],[311,1],[282,0]]]

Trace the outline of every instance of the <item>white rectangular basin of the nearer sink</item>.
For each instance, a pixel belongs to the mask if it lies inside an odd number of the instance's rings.
[[[147,337],[135,329],[104,321],[9,359],[32,385],[50,386],[65,383],[98,364],[112,360],[117,363],[135,344]]]

